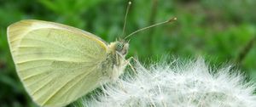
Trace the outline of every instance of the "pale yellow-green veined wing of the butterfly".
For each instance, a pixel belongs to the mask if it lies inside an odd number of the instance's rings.
[[[97,87],[107,45],[89,32],[40,20],[8,28],[20,81],[41,106],[64,106]]]

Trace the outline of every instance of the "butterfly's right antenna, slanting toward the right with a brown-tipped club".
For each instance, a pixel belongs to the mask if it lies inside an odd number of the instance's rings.
[[[136,34],[136,33],[139,32],[139,31],[144,31],[144,30],[147,30],[148,28],[151,28],[151,27],[154,27],[154,26],[157,26],[157,25],[163,25],[163,24],[166,24],[166,23],[171,23],[171,22],[173,22],[173,21],[175,21],[175,20],[177,20],[176,17],[174,17],[174,18],[172,18],[172,19],[170,19],[170,20],[166,20],[166,21],[163,21],[163,22],[154,24],[154,25],[149,25],[149,26],[147,26],[147,27],[144,27],[144,28],[142,28],[142,29],[139,29],[139,30],[137,30],[137,31],[132,32],[131,34],[129,34],[128,36],[126,36],[125,39],[127,39],[128,37],[131,37],[132,35]]]

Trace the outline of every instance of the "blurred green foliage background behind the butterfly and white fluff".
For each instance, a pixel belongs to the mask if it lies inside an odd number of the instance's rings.
[[[15,73],[6,37],[8,25],[19,20],[49,20],[90,31],[107,42],[122,32],[128,1],[119,0],[0,0],[0,106],[34,106]],[[214,65],[236,64],[247,42],[256,36],[255,0],[133,1],[127,30],[176,16],[131,37],[129,56],[148,63],[161,56],[191,59],[203,56]],[[125,33],[125,35],[129,34]],[[237,67],[256,80],[256,46]]]

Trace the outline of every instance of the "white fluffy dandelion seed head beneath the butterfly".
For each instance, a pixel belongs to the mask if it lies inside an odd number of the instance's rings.
[[[85,107],[256,107],[255,84],[230,66],[210,69],[202,59],[187,64],[135,66],[137,75],[81,100]]]

